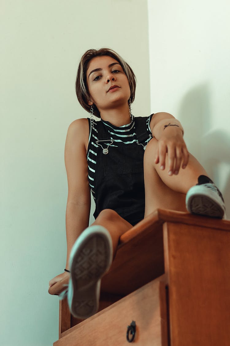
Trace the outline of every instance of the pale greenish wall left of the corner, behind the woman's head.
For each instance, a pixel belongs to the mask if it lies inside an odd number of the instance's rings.
[[[147,1],[1,1],[0,343],[51,345],[66,263],[69,124],[87,113],[74,82],[81,55],[111,47],[137,75],[133,114],[149,115]]]

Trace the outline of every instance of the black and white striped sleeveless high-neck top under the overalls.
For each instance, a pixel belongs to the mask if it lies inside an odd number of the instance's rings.
[[[146,131],[149,136],[146,142],[143,143],[143,146],[144,144],[147,144],[149,140],[152,138],[152,132],[150,129],[150,118],[151,116],[149,116],[146,120]],[[138,144],[134,117],[133,117],[133,120],[130,122],[130,124],[119,126],[119,127],[114,126],[110,124],[110,122],[104,121],[102,119],[100,121],[102,121],[103,124],[106,126],[109,132],[109,137],[111,138],[111,140],[113,140],[113,143],[110,144],[110,146],[119,147],[124,144],[133,144],[133,143]],[[94,176],[95,176],[95,170],[96,170],[97,148],[98,148],[98,144],[96,143],[97,140],[98,140],[97,121],[93,120],[93,128],[90,126],[87,161],[88,161],[88,172],[89,172],[89,175],[88,175],[89,185],[90,185],[94,200],[95,200]]]

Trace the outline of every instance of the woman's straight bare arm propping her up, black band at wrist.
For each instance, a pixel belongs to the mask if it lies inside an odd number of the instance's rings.
[[[66,208],[67,269],[69,269],[69,255],[74,242],[81,232],[89,226],[91,197],[87,163],[88,138],[89,125],[87,119],[77,119],[70,124],[65,145],[65,165],[68,180]],[[67,275],[65,272],[54,277],[50,280],[49,285],[52,286]]]

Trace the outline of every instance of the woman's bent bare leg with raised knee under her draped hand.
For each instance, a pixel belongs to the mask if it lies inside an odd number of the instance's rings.
[[[163,171],[154,163],[156,145],[157,139],[151,139],[144,153],[145,217],[157,208],[186,211],[186,193],[197,184],[199,175],[207,175],[191,154],[186,169],[180,169],[178,175],[168,175],[167,158]]]

